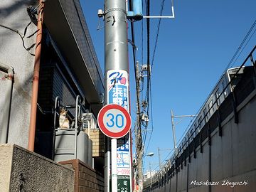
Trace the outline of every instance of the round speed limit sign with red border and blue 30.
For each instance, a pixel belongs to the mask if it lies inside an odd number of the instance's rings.
[[[124,137],[131,128],[131,116],[127,110],[117,104],[105,105],[97,116],[100,130],[111,138]]]

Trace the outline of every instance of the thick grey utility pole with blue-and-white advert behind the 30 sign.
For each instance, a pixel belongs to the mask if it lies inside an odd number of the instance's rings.
[[[105,0],[105,104],[118,104],[129,112],[129,64],[127,46],[127,10],[125,0]],[[124,139],[123,139],[124,140]],[[109,142],[107,142],[109,145]],[[128,154],[130,149],[127,142]],[[107,147],[109,150],[109,147]],[[117,192],[117,139],[111,139],[110,151],[105,153],[105,192]],[[128,155],[129,156],[129,155]],[[131,162],[128,161],[129,170]],[[129,181],[131,178],[129,175]],[[130,188],[130,187],[129,187]],[[131,190],[131,189],[130,189]],[[127,187],[126,191],[130,191]]]

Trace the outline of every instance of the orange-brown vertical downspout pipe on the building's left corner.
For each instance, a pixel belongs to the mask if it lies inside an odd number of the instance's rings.
[[[32,83],[32,96],[31,96],[31,118],[29,124],[28,134],[28,150],[34,151],[35,136],[36,136],[36,110],[38,100],[38,81],[39,81],[39,69],[41,59],[41,43],[43,33],[43,0],[39,0],[38,9],[38,32],[36,35],[36,53],[35,53],[35,64],[33,70],[33,83]]]

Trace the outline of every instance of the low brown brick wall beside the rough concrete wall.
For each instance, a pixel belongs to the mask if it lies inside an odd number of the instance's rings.
[[[103,176],[91,169],[79,159],[61,161],[63,165],[71,165],[75,170],[75,192],[103,192]]]

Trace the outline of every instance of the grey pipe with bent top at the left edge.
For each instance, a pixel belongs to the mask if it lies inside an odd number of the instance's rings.
[[[11,114],[11,95],[14,85],[14,68],[9,65],[0,63],[0,70],[7,73],[5,78],[7,79],[7,91],[6,91],[6,105],[4,105],[4,114],[3,120],[1,122],[1,134],[0,134],[0,144],[6,144],[8,142],[8,133],[9,133],[9,123],[10,123],[10,114]]]

